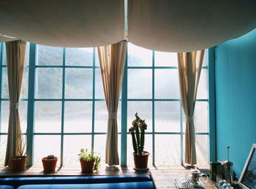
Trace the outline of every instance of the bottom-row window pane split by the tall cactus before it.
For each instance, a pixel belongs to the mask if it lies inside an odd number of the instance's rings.
[[[145,147],[144,151],[150,153],[148,155],[148,166],[152,164],[152,135],[146,134],[145,135]],[[131,134],[128,134],[127,136],[127,165],[128,166],[134,166],[134,159],[133,159],[133,147],[132,147],[132,136]]]

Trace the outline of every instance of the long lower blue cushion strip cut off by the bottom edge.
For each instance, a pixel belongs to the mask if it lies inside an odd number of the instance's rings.
[[[105,183],[105,184],[78,184],[78,185],[22,185],[18,189],[66,189],[66,188],[78,188],[78,189],[151,189],[154,188],[153,182],[119,182],[119,183]]]

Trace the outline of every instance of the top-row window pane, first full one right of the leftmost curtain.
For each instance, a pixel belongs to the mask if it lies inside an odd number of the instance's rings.
[[[58,66],[62,65],[63,48],[37,45],[37,65]]]

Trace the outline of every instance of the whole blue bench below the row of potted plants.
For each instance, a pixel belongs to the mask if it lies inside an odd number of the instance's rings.
[[[116,183],[116,184],[115,184]],[[95,184],[95,186],[93,185]],[[102,185],[99,185],[102,184]],[[114,185],[113,185],[114,184]],[[10,185],[14,188],[61,188],[64,185],[70,188],[154,188],[151,177],[147,174],[138,175],[108,175],[108,176],[82,176],[82,177],[1,177],[0,185]],[[36,186],[37,185],[37,186]],[[145,185],[145,187],[144,187]],[[21,187],[22,186],[22,187]],[[0,188],[1,189],[1,188]],[[10,189],[10,188],[7,188]]]

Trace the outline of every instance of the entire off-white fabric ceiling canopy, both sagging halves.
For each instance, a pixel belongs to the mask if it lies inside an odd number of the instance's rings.
[[[256,1],[128,0],[127,20],[129,42],[187,52],[254,29]],[[124,1],[1,0],[0,34],[59,47],[113,44],[124,39]],[[0,41],[7,40],[0,36]]]

